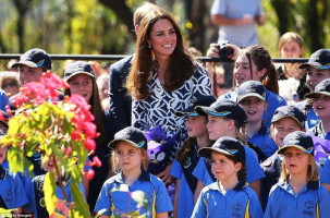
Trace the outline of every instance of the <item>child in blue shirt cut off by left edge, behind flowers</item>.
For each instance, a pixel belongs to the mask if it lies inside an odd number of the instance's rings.
[[[0,138],[3,136],[0,130]],[[2,167],[7,159],[7,147],[0,144],[0,208],[14,209],[13,214],[21,214],[22,206],[28,203],[19,174]],[[17,215],[16,215],[17,216]]]

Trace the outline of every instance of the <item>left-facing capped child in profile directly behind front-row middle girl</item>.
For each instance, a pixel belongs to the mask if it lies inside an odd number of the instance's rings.
[[[230,99],[218,99],[210,107],[196,107],[195,110],[198,114],[207,114],[207,130],[210,140],[216,141],[222,136],[231,136],[245,143],[244,125],[247,122],[247,116],[237,102]],[[260,196],[260,180],[265,174],[258,162],[257,154],[247,146],[244,146],[244,148],[246,154],[246,181]],[[213,183],[216,178],[212,175],[210,165],[201,158],[193,174],[198,179],[194,197],[197,201],[200,190]]]

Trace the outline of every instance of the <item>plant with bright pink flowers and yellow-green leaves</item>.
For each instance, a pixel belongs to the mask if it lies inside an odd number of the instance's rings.
[[[48,161],[52,164],[54,172],[48,172],[44,181],[45,203],[50,215],[54,213],[58,202],[56,181],[60,184],[64,202],[68,202],[61,177],[71,174],[74,206],[70,217],[89,217],[88,205],[78,184],[88,152],[95,149],[93,138],[97,133],[91,122],[94,117],[81,96],[66,96],[62,101],[50,100],[59,98],[58,89],[68,88],[60,77],[47,72],[40,81],[26,84],[14,98],[19,109],[15,116],[12,114],[8,134],[1,138],[0,145],[10,146],[8,159],[13,172],[25,172],[27,168],[33,177],[33,165],[27,158],[36,152],[42,154],[42,166]]]

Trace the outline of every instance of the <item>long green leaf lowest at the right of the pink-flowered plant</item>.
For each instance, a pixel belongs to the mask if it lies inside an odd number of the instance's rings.
[[[70,191],[74,201],[74,218],[77,217],[90,217],[89,207],[84,199],[84,195],[80,190],[78,183],[71,183]]]

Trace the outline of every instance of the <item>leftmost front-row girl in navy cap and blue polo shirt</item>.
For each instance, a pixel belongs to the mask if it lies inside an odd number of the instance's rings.
[[[163,182],[147,172],[147,138],[136,128],[125,128],[109,143],[112,152],[112,169],[117,174],[108,179],[97,199],[95,211],[106,211],[101,217],[127,217],[131,211],[139,211],[146,217],[168,218],[173,210]],[[147,209],[131,198],[132,192],[142,191]],[[130,193],[129,193],[130,192]]]

